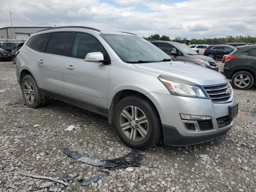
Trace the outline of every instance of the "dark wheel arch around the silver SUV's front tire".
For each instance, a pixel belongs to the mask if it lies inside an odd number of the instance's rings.
[[[137,96],[141,96],[145,99],[147,99],[148,101],[150,101],[152,103],[152,106],[154,106],[154,108],[156,109],[158,115],[159,115],[159,112],[155,106],[155,104],[152,102],[152,100],[150,100],[150,98],[148,98],[145,94],[137,91],[137,90],[131,90],[131,89],[124,89],[124,90],[120,90],[118,91],[112,101],[111,101],[111,105],[110,105],[110,108],[108,110],[108,122],[110,124],[113,123],[113,117],[114,117],[114,110],[115,110],[115,107],[116,107],[116,104],[122,99],[122,98],[125,98],[127,96],[130,96],[130,95],[137,95]],[[160,116],[159,116],[160,117]],[[161,120],[161,119],[160,119]]]

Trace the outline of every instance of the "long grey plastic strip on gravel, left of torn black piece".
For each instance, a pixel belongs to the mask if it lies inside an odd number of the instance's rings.
[[[114,167],[117,166],[117,164],[112,163],[112,162],[106,162],[106,161],[102,161],[100,159],[95,159],[95,158],[89,158],[89,157],[85,157],[82,156],[81,154],[79,154],[78,152],[74,152],[72,150],[69,150],[68,148],[63,148],[62,152],[64,152],[66,155],[80,161],[80,162],[84,162],[87,163],[89,165],[94,165],[94,166],[101,166],[101,167]]]

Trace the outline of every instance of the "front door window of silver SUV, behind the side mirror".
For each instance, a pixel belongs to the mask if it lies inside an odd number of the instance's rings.
[[[71,57],[84,59],[86,54],[91,52],[101,52],[103,55],[105,55],[104,49],[94,37],[84,33],[77,33],[74,40]]]

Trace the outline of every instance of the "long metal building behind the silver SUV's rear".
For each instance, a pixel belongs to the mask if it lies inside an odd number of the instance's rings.
[[[13,34],[11,27],[0,28],[0,40],[25,41],[30,35],[46,28],[51,27],[14,27]]]

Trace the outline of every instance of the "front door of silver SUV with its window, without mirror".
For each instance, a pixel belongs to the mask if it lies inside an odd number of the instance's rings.
[[[106,109],[110,66],[84,61],[90,52],[102,52],[107,56],[94,36],[77,33],[71,55],[64,62],[64,92],[67,99],[75,99],[78,105],[91,110]]]

